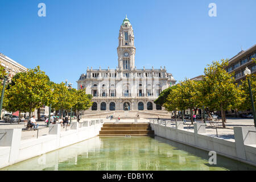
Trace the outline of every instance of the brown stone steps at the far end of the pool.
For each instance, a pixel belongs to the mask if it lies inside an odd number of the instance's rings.
[[[149,123],[105,123],[101,127],[99,136],[149,136],[154,137],[154,131],[151,130]]]

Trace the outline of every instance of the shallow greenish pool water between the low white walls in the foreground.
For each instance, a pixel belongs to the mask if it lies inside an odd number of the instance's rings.
[[[207,151],[160,137],[95,137],[0,170],[256,170]]]

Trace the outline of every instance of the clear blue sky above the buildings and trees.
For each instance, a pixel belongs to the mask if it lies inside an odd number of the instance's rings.
[[[38,16],[40,2],[46,17]],[[208,15],[212,2],[217,17]],[[0,52],[76,87],[87,67],[117,67],[118,33],[127,14],[137,68],[166,66],[179,81],[256,44],[255,8],[255,0],[1,0]]]

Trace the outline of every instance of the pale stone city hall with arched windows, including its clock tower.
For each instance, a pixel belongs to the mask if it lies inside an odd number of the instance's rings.
[[[98,117],[104,112],[117,115],[119,111],[122,115],[126,110],[133,113],[130,116],[139,114],[138,111],[167,113],[155,105],[154,100],[162,90],[175,85],[172,74],[167,73],[166,67],[137,69],[134,32],[127,16],[120,27],[118,40],[117,69],[87,68],[77,81],[77,89],[86,88],[86,93],[93,96],[92,107],[82,114]]]

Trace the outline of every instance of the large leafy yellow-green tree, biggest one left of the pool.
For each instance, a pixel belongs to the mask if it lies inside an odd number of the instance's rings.
[[[49,104],[52,94],[49,78],[39,66],[20,74],[14,82],[8,90],[9,103],[5,104],[7,109],[15,107],[16,110],[28,111],[31,117],[31,112],[36,108]]]

